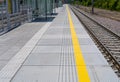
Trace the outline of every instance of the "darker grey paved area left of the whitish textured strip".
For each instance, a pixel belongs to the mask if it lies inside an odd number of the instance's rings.
[[[0,70],[45,24],[46,22],[26,23],[0,36]]]

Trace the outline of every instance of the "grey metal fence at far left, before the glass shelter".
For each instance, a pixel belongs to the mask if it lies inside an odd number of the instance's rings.
[[[27,8],[25,5],[21,5],[18,0],[4,0],[0,3],[0,35],[26,20]]]

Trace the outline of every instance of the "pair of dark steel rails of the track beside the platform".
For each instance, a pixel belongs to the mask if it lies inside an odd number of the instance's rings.
[[[117,69],[116,72],[120,73],[120,63],[118,62],[119,60],[117,60],[114,57],[113,53],[111,53],[111,51],[99,40],[99,38],[96,36],[96,34],[90,28],[88,28],[87,25],[84,24],[84,22],[79,17],[79,13],[82,14],[83,16],[87,17],[91,21],[93,21],[96,25],[100,26],[101,28],[103,28],[104,30],[106,30],[107,32],[109,32],[110,34],[114,35],[117,39],[119,39],[119,41],[120,41],[120,36],[118,36],[117,34],[115,34],[114,32],[112,32],[111,30],[105,28],[103,25],[99,24],[98,22],[96,22],[94,19],[92,19],[88,15],[82,13],[78,8],[76,8],[74,6],[70,6],[70,8],[73,10],[73,12],[75,13],[75,15],[78,17],[78,19],[85,26],[85,28],[87,29],[88,33],[97,42],[97,45],[99,45],[99,47],[104,51],[105,55],[109,58],[109,62],[112,62],[112,64],[113,64],[112,67],[116,68]]]

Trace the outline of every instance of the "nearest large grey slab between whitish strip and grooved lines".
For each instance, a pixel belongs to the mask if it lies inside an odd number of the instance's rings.
[[[59,66],[23,66],[11,82],[58,82]]]

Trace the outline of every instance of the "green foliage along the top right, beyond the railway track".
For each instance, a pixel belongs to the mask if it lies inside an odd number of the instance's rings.
[[[74,0],[74,4],[91,6],[92,0]],[[94,6],[97,8],[120,11],[120,0],[94,0]]]

